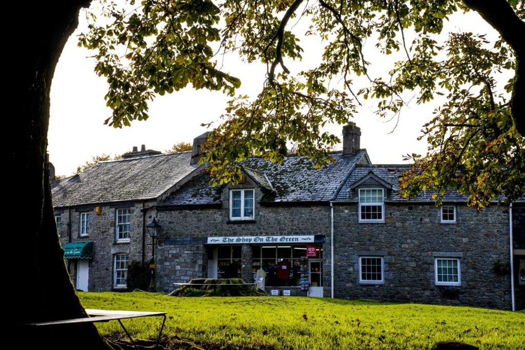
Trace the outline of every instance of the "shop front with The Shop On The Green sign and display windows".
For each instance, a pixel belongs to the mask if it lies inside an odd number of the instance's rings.
[[[274,295],[322,297],[323,240],[313,235],[208,237],[207,277],[244,278]]]

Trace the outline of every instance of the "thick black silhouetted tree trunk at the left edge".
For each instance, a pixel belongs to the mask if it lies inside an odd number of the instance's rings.
[[[12,116],[15,133],[12,174],[16,176],[14,208],[23,217],[9,218],[16,226],[9,230],[15,255],[9,271],[9,323],[14,318],[15,334],[23,347],[51,345],[53,348],[108,348],[93,324],[29,327],[31,322],[52,321],[86,316],[71,284],[64,251],[60,247],[46,162],[49,121],[49,91],[60,52],[77,26],[78,12],[90,0],[37,2],[6,10],[6,14],[24,11],[23,29],[9,33],[15,40],[9,48],[13,55],[13,89],[17,114]],[[14,5],[8,5],[14,6]],[[21,7],[26,7],[21,8]],[[27,18],[29,17],[29,18]],[[23,33],[23,34],[20,34]],[[30,33],[26,35],[25,33]],[[13,50],[15,48],[16,50]],[[23,62],[23,63],[20,63]],[[10,67],[7,67],[10,68]],[[9,73],[9,72],[8,72]],[[11,203],[9,203],[11,204]],[[16,264],[15,264],[16,261]],[[6,285],[6,284],[4,284]],[[10,334],[8,334],[9,336]]]

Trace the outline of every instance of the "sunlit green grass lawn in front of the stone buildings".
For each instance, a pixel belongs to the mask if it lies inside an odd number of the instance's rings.
[[[429,349],[458,341],[480,349],[524,349],[525,313],[475,307],[272,297],[177,298],[160,293],[83,293],[91,309],[165,311],[163,334],[204,348]],[[123,320],[132,336],[154,338],[159,318]],[[118,322],[97,323],[103,335]]]

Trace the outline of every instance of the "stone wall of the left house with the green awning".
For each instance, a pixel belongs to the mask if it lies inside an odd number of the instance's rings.
[[[129,207],[130,210],[129,242],[117,242],[116,212],[117,208],[121,207]],[[101,206],[100,215],[96,213],[95,206],[60,208],[55,211],[55,214],[61,217],[60,241],[62,245],[67,242],[95,242],[93,259],[89,262],[89,291],[117,290],[113,285],[115,254],[129,254],[130,263],[142,261],[143,214],[141,209],[142,203],[131,203]],[[86,236],[81,236],[79,233],[80,213],[89,213],[89,230]],[[149,219],[151,221],[151,217]],[[146,220],[148,220],[148,217],[146,217]],[[147,231],[144,239],[146,244],[145,260],[148,261],[151,258],[151,238]],[[68,259],[67,261],[74,285],[76,285],[76,263],[76,259]]]

